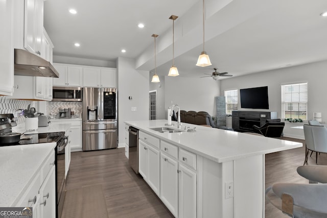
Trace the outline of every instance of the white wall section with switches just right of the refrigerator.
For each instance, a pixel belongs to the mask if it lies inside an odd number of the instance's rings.
[[[118,127],[119,147],[125,146],[125,124],[127,120],[149,119],[149,71],[135,70],[135,61],[118,58]],[[132,96],[132,100],[128,99]],[[136,111],[131,111],[136,107]]]

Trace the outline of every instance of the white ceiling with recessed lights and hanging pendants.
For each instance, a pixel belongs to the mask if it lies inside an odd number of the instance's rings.
[[[205,51],[212,66],[195,66],[202,51],[202,1],[198,0],[48,0],[44,27],[54,55],[113,61],[135,58],[136,67],[154,68],[152,34],[157,38],[157,72],[172,65],[172,21],[175,21],[175,65],[181,77],[220,72],[241,76],[253,72],[327,60],[325,0],[206,0]],[[75,8],[72,15],[68,9]],[[138,29],[138,22],[145,24]],[[186,29],[188,32],[186,32]],[[80,47],[74,47],[79,42]],[[121,50],[126,49],[122,54]],[[202,78],[208,79],[208,78]]]

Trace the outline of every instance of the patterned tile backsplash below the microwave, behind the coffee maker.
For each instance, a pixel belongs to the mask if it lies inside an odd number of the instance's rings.
[[[46,113],[53,118],[59,117],[60,108],[71,108],[71,111],[74,111],[74,117],[82,117],[82,102],[46,102]]]

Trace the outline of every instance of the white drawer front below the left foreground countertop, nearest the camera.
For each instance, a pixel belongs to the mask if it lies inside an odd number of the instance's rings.
[[[16,207],[34,207],[34,203],[38,200],[39,196],[39,189],[41,187],[41,174],[38,173],[29,187],[27,188],[24,195],[21,197],[19,202],[17,203]],[[35,200],[33,202],[33,200]]]

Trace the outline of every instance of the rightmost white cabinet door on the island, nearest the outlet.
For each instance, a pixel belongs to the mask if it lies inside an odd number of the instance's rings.
[[[196,218],[196,173],[179,164],[179,218]]]

